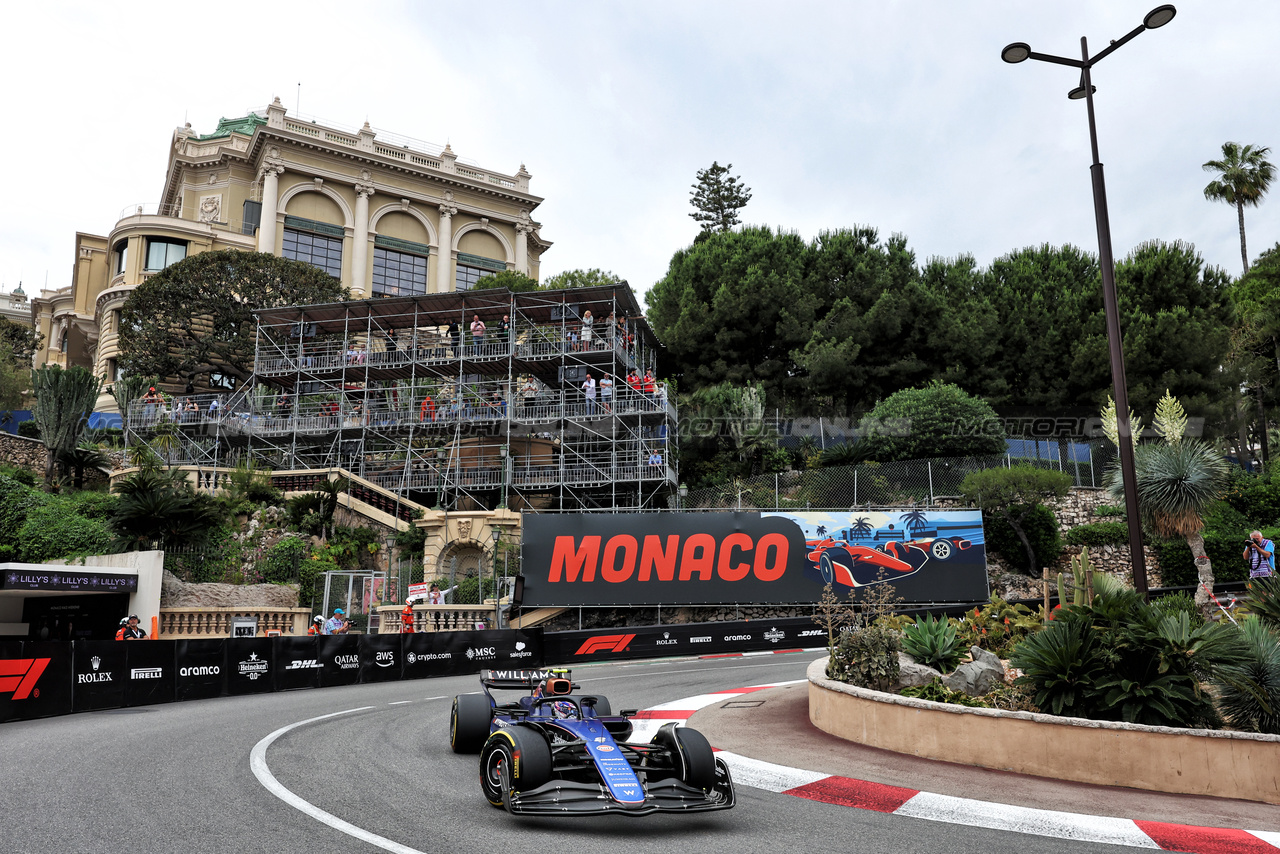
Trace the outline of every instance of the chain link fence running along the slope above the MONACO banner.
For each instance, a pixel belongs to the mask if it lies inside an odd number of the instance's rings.
[[[1037,456],[941,457],[864,462],[740,478],[690,490],[684,510],[846,510],[859,506],[936,504],[955,499],[972,471],[1030,465],[1065,471],[1076,487],[1102,487],[1116,453],[1110,443],[1039,443]]]

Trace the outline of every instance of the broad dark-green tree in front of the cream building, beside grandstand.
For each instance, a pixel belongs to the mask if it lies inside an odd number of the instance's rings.
[[[200,252],[140,284],[120,310],[125,374],[193,379],[215,371],[247,380],[253,311],[339,302],[328,273],[266,252]]]

